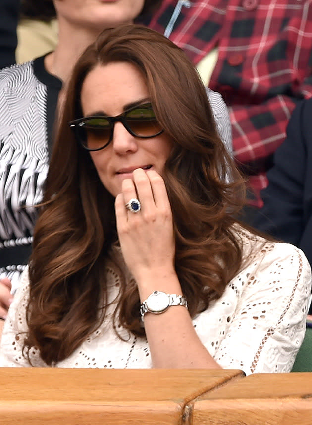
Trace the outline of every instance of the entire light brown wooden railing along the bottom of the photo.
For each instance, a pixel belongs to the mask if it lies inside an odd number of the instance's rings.
[[[312,425],[312,373],[0,369],[0,424]]]

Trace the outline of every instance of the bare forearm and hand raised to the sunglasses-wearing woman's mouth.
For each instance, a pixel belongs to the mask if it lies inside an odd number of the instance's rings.
[[[172,211],[163,179],[154,170],[137,169],[133,180],[123,180],[122,191],[115,200],[119,242],[141,303],[154,291],[183,295],[174,268]],[[138,214],[125,208],[136,196],[142,204]],[[148,312],[144,317],[153,366],[219,368],[199,340],[186,307],[172,305],[165,310],[170,300],[164,299],[164,303],[156,300],[160,308],[154,310],[164,312]]]

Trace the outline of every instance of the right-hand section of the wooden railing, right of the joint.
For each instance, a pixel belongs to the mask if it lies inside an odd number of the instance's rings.
[[[312,373],[250,375],[187,407],[194,425],[311,425]]]

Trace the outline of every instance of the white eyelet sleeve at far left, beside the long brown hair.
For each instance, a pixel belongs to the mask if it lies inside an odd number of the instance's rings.
[[[31,363],[27,355],[23,356],[23,343],[27,333],[26,306],[29,298],[28,267],[21,275],[20,287],[16,291],[4,323],[0,345],[0,367],[44,367],[37,349],[30,352]]]

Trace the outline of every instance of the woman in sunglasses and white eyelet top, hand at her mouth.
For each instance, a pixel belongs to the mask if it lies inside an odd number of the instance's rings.
[[[185,54],[105,30],[68,84],[0,364],[290,371],[310,268],[235,221],[243,188]]]

